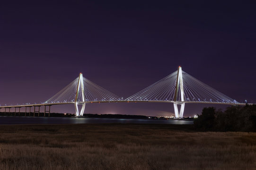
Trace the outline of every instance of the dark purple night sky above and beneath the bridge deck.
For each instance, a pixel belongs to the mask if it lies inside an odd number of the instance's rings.
[[[127,98],[178,66],[238,102],[256,102],[255,57],[255,0],[0,3],[1,105],[45,102],[80,72]],[[184,115],[205,106],[187,104]],[[52,109],[74,113],[72,105]],[[85,112],[174,110],[167,103],[101,103]]]

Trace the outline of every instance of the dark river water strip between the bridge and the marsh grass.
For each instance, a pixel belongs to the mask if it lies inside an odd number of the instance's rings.
[[[0,125],[13,124],[80,124],[80,123],[142,123],[191,125],[187,120],[149,120],[149,119],[106,119],[106,118],[56,118],[56,117],[10,117],[0,116]]]

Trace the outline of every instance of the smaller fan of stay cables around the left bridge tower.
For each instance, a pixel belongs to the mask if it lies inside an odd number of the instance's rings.
[[[77,88],[79,83],[79,77],[72,81],[69,85],[64,87],[60,92],[56,93],[53,97],[48,99],[44,103],[63,103],[63,102],[75,102]],[[79,85],[79,93],[77,96],[77,102],[82,102],[82,93],[85,96],[85,102],[103,102],[103,101],[119,101],[120,97],[107,91],[99,85],[91,82],[87,78],[83,77],[84,92],[82,86]]]

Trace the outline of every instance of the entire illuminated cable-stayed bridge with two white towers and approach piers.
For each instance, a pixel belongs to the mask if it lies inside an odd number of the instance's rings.
[[[227,105],[246,105],[247,103],[240,103],[225,94],[213,89],[209,85],[197,80],[186,72],[182,71],[181,67],[172,74],[162,78],[158,82],[141,90],[132,96],[123,99],[114,93],[107,91],[99,85],[91,82],[79,74],[75,80],[64,87],[60,92],[56,93],[40,104],[24,104],[13,106],[0,106],[4,112],[11,108],[18,109],[25,107],[25,116],[31,114],[31,107],[34,107],[35,113],[40,113],[40,107],[44,106],[44,117],[50,116],[50,109],[52,105],[60,104],[74,104],[76,116],[83,116],[85,106],[88,103],[100,102],[168,102],[173,103],[176,118],[183,118],[185,103],[206,103],[206,104],[227,104]],[[79,110],[79,105],[81,109]],[[180,105],[180,107],[178,107]],[[48,109],[47,109],[48,107]],[[37,108],[37,110],[36,110]],[[9,109],[9,110],[8,110]],[[6,111],[7,110],[7,111]],[[29,110],[29,112],[27,112]]]

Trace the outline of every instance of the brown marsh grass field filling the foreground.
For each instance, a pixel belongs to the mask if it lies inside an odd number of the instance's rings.
[[[0,170],[256,170],[256,133],[191,125],[0,126]]]

